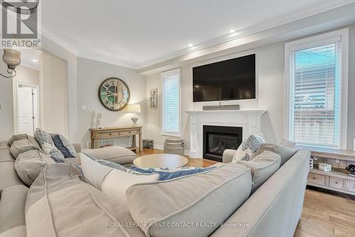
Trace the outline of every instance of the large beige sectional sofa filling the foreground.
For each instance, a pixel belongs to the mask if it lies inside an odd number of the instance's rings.
[[[154,182],[131,187],[127,192],[127,204],[116,202],[85,182],[80,170],[71,162],[50,163],[42,167],[40,175],[28,185],[21,180],[14,168],[16,160],[11,154],[8,142],[1,142],[0,236],[143,237],[166,236],[166,233],[169,236],[293,236],[302,212],[310,150],[299,150],[295,153],[250,197],[251,184],[246,184],[251,182],[249,169],[231,163],[229,165],[234,152],[229,150],[224,154],[223,161],[228,164],[208,173],[171,182]],[[40,158],[43,157],[40,155]],[[234,175],[233,172],[240,174]],[[190,183],[196,183],[197,180],[200,180],[197,187],[189,187]],[[218,180],[234,182],[217,185],[218,189],[211,189],[211,192],[196,199],[182,212],[168,216],[180,217],[182,220],[194,218],[195,221],[208,221],[212,216],[222,218],[219,226],[212,227],[213,231],[210,226],[200,226],[191,230],[180,228],[176,233],[176,228],[154,226],[155,228],[148,229],[133,224],[136,219],[149,214],[151,206],[169,209],[172,205],[180,205],[182,201],[197,197],[199,192],[203,193],[204,190],[199,187],[208,184],[204,182],[217,184]],[[229,186],[226,186],[227,184]],[[184,187],[182,191],[189,189],[191,195],[187,193],[180,197],[179,187]],[[221,187],[224,187],[223,192]],[[249,189],[249,192],[244,192],[245,189]],[[162,194],[158,194],[159,192]],[[169,192],[175,192],[179,197],[170,197],[169,202],[172,204],[167,205],[162,195]],[[213,196],[217,194],[219,195]],[[241,194],[248,195],[246,200],[241,201],[238,197]],[[157,202],[151,202],[153,198]],[[234,199],[240,204],[236,204]],[[223,203],[218,200],[223,200]],[[190,209],[190,206],[193,209]],[[134,214],[131,211],[134,211]],[[230,214],[218,217],[220,213]],[[160,222],[161,220],[154,223]],[[132,226],[122,226],[123,223]]]

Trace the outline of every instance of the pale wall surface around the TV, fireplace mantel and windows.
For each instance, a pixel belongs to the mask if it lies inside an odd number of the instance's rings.
[[[351,67],[355,63],[355,25],[349,27],[349,111],[348,111],[348,133],[347,133],[347,149],[353,149],[353,138],[355,135],[355,123],[351,121],[355,117],[355,95],[352,93],[355,89],[355,67]],[[266,109],[267,114],[263,114],[261,119],[261,130],[268,142],[274,143],[283,139],[284,136],[284,44],[285,42],[266,45],[260,48],[243,50],[239,52],[239,48],[226,50],[224,55],[214,53],[204,57],[200,57],[199,62],[190,62],[182,65],[181,87],[182,87],[182,138],[185,140],[185,149],[190,150],[190,127],[189,118],[185,111],[202,110],[203,105],[214,104],[217,102],[192,102],[192,67],[204,65],[211,62],[226,60],[242,55],[256,54],[256,84],[257,98],[251,100],[226,101],[223,104],[236,103],[240,104],[241,109]],[[173,68],[173,66],[172,66]],[[158,88],[158,100],[161,99],[160,90],[160,73],[147,76],[147,90]],[[147,94],[148,98],[148,94]],[[148,109],[147,114],[147,133],[148,137],[154,140],[156,147],[163,146],[165,136],[160,135],[160,106],[158,110]]]

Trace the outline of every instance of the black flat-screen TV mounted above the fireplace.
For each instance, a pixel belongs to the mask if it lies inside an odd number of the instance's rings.
[[[255,99],[255,67],[255,54],[193,67],[193,101]]]

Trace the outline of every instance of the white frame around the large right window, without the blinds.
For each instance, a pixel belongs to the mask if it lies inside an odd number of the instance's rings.
[[[327,43],[336,43],[340,40],[341,57],[341,89],[340,89],[340,134],[339,147],[329,147],[346,150],[347,116],[348,116],[348,79],[349,79],[349,28],[338,31],[322,33],[300,40],[285,43],[285,133],[284,138],[290,139],[290,56],[294,50],[317,47]],[[320,145],[307,145],[320,147]],[[322,148],[325,148],[322,146]]]

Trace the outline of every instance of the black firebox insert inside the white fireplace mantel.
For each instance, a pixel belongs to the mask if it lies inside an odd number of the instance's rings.
[[[222,162],[226,149],[236,150],[243,139],[241,127],[203,126],[203,158]]]

